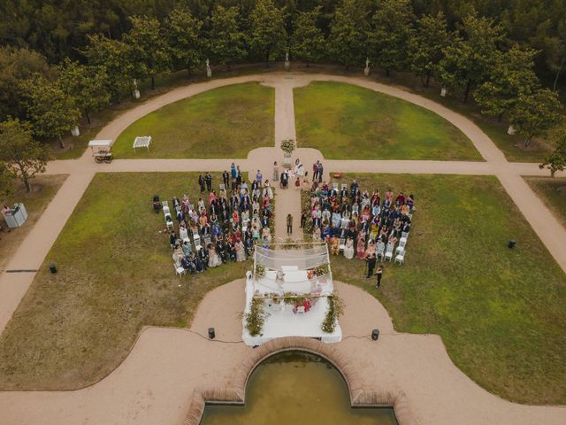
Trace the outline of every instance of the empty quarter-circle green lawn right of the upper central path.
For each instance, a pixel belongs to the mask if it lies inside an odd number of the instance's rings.
[[[470,139],[439,115],[341,82],[294,89],[299,146],[336,159],[481,160]]]

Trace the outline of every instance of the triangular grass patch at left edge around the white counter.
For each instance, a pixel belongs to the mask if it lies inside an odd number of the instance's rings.
[[[41,217],[51,199],[57,194],[57,190],[65,182],[66,174],[58,175],[39,175],[31,181],[32,191],[27,192],[26,187],[19,183],[14,195],[8,199],[2,199],[3,205],[14,205],[14,202],[21,202],[26,205],[27,220],[20,228],[7,228],[4,218],[0,216],[3,230],[0,231],[0,273],[11,259],[34,224]]]

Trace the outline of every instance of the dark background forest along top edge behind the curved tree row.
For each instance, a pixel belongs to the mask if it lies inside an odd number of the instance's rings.
[[[88,45],[88,35],[103,34],[121,39],[130,30],[132,16],[148,16],[163,23],[175,8],[184,8],[210,26],[210,16],[218,6],[233,6],[240,12],[241,30],[251,32],[251,13],[260,0],[4,0],[0,2],[0,45],[36,50],[59,63],[64,58],[80,59]],[[274,0],[286,12],[286,29],[291,32],[301,12],[321,7],[317,24],[325,35],[341,0]],[[563,66],[566,49],[566,3],[563,0],[411,0],[416,19],[442,12],[448,28],[455,30],[471,12],[494,19],[505,28],[512,42],[541,51],[537,68],[556,73]],[[361,11],[371,16],[382,0],[359,0]]]

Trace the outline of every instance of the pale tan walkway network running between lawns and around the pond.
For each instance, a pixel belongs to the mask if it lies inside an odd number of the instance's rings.
[[[340,171],[496,175],[546,244],[548,251],[566,271],[566,250],[563,242],[566,240],[566,229],[555,220],[553,214],[521,177],[547,175],[545,170],[539,170],[536,164],[509,163],[489,137],[462,115],[431,100],[368,79],[270,73],[207,81],[174,89],[161,97],[150,99],[113,120],[97,137],[116,139],[134,120],[164,104],[205,90],[246,81],[261,81],[275,88],[275,146],[250,151],[248,158],[235,160],[243,171],[255,175],[259,167],[262,174],[270,178],[273,161],[282,161],[280,141],[289,137],[295,138],[294,87],[306,85],[310,81],[343,81],[384,92],[419,104],[452,122],[470,138],[486,161],[325,160],[319,151],[305,148],[295,151],[293,160],[300,158],[305,168],[310,171],[311,164],[322,159],[326,173]],[[7,268],[40,267],[96,173],[222,171],[231,162],[233,159],[230,158],[127,159],[115,160],[110,165],[97,165],[88,151],[76,160],[54,161],[48,166],[47,173],[69,174],[69,178],[14,253]],[[328,179],[328,175],[325,178]],[[290,212],[295,218],[293,237],[300,237],[299,191],[291,185],[290,189],[277,190],[276,197],[276,236],[286,237],[285,217]],[[10,320],[33,278],[33,273],[4,273],[0,276],[0,331]],[[367,335],[369,328],[378,325],[388,332],[380,337],[379,344],[353,338],[340,343],[340,349],[359,360],[359,365],[369,380],[368,385],[379,383],[392,389],[402,388],[408,395],[410,406],[414,406],[419,423],[566,423],[566,410],[561,407],[518,406],[481,390],[448,359],[438,336],[394,333],[391,322],[385,318],[385,310],[377,300],[348,288],[340,288],[344,291],[342,295],[345,295],[348,305],[344,317],[346,334]],[[241,311],[243,305],[241,282],[215,290],[206,299],[211,299],[211,304],[207,304],[208,301],[203,302],[192,328],[203,331],[218,321],[219,338],[239,339],[241,321],[235,314]],[[226,300],[229,300],[231,305],[227,310]],[[219,305],[222,306],[221,313]],[[206,319],[201,320],[202,317]],[[229,380],[233,368],[237,367],[241,356],[245,356],[248,350],[242,344],[210,343],[184,330],[148,328],[142,332],[133,352],[124,363],[101,383],[86,390],[0,392],[2,423],[179,423],[188,408],[187,399],[192,389],[201,383],[223,383]]]

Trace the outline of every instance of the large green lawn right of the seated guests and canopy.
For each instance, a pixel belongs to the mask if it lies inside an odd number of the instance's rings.
[[[416,196],[406,263],[385,264],[379,291],[358,259],[333,257],[334,277],[377,296],[398,331],[442,336],[456,366],[486,390],[522,403],[566,403],[566,275],[496,178],[356,179],[370,193],[378,186]]]

